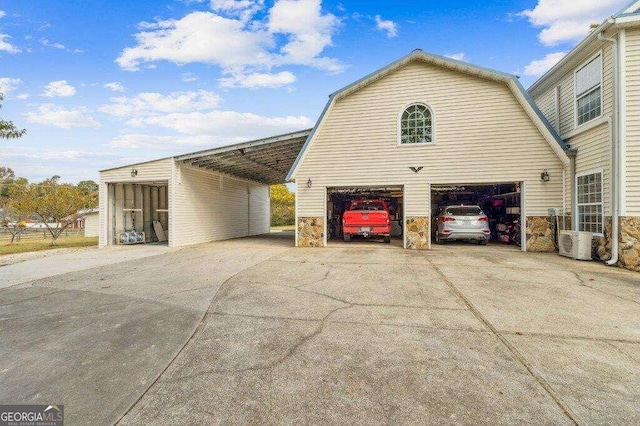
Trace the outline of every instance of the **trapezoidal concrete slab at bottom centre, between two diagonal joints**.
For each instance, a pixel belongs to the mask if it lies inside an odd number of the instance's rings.
[[[487,333],[319,326],[212,317],[122,424],[569,423]]]

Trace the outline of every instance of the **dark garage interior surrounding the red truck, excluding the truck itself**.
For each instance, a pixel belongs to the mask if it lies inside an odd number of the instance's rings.
[[[342,214],[354,200],[384,200],[391,215],[391,245],[403,247],[404,189],[402,186],[327,188],[327,244],[344,243]],[[354,236],[352,242],[380,242],[382,238]]]

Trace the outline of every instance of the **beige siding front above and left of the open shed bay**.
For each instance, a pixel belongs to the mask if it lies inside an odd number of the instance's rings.
[[[168,182],[171,178],[173,168],[173,159],[166,158],[161,160],[149,161],[146,163],[123,166],[116,169],[105,170],[100,172],[99,187],[99,245],[104,247],[109,243],[110,230],[108,229],[108,217],[111,212],[111,193],[108,193],[108,183],[137,183],[164,181]],[[136,169],[138,175],[131,177],[131,170]],[[116,194],[117,195],[117,194]],[[169,195],[171,196],[171,195]],[[117,200],[116,200],[117,201]],[[117,204],[117,203],[116,203]],[[116,221],[122,215],[122,207],[116,211]]]

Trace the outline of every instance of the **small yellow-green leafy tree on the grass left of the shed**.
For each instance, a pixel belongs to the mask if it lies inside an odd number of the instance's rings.
[[[60,176],[28,185],[20,194],[25,210],[40,216],[51,234],[51,245],[78,219],[98,204],[97,194],[84,194],[77,186],[58,183]]]

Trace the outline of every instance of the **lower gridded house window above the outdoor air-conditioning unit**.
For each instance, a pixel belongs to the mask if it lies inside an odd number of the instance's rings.
[[[578,231],[603,233],[602,172],[579,175]]]

